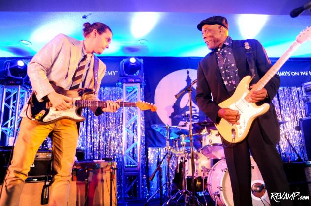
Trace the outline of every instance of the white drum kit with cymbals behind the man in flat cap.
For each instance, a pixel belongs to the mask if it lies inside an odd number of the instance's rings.
[[[194,152],[194,181],[195,181],[195,193],[202,194],[205,203],[202,204],[196,198],[196,203],[194,205],[208,205],[205,195],[209,194],[215,206],[233,206],[233,195],[231,189],[231,181],[227,169],[227,164],[225,161],[225,155],[223,151],[223,144],[221,137],[216,130],[214,124],[211,120],[206,120],[203,122],[193,123],[192,124],[198,133],[193,134],[193,141],[201,142],[201,147],[196,148]],[[189,197],[192,197],[193,194],[188,189],[192,189],[191,180],[192,180],[192,158],[189,153],[188,142],[189,142],[189,131],[186,129],[180,129],[182,126],[168,126],[168,125],[152,125],[152,129],[156,130],[162,134],[166,139],[166,149],[168,154],[175,155],[175,158],[178,159],[179,163],[182,163],[182,190],[173,194],[170,194],[170,179],[167,179],[166,185],[168,186],[168,201],[164,205],[169,203],[176,203],[181,199],[181,196],[185,195],[185,203],[188,202]],[[199,128],[199,129],[198,129]],[[169,137],[169,138],[167,138]],[[173,145],[173,146],[170,146]],[[166,155],[166,158],[170,158],[172,155]],[[218,160],[213,165],[213,160]],[[171,162],[169,160],[168,162]],[[177,164],[178,167],[179,164]],[[168,164],[168,170],[170,169],[170,164]],[[180,169],[179,169],[180,170]],[[251,157],[251,171],[252,179],[251,185],[264,185],[262,176],[257,167],[256,162]],[[170,173],[169,171],[167,172]],[[169,177],[169,176],[168,176]],[[186,194],[183,191],[187,191]],[[179,195],[179,197],[178,197]],[[252,190],[252,202],[254,206],[259,206],[262,204],[262,201],[265,203],[269,202],[268,193],[265,189],[260,191]],[[187,201],[187,202],[186,202]],[[185,204],[188,205],[188,204]]]

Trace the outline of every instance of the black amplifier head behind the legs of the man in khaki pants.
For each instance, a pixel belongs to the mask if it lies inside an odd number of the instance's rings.
[[[11,161],[11,147],[0,149],[0,183],[3,182],[5,172]],[[11,157],[12,158],[12,157]],[[45,180],[46,175],[51,173],[52,152],[50,150],[38,150],[34,162],[31,165],[26,181]]]

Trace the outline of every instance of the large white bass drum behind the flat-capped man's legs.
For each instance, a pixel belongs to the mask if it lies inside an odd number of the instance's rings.
[[[250,157],[251,162],[251,186],[264,184],[262,176],[259,172],[256,162]],[[215,201],[215,194],[219,194],[217,197],[217,204],[219,206],[233,206],[233,194],[231,189],[231,181],[228,173],[228,168],[225,159],[218,161],[210,170],[208,175],[207,189]],[[265,205],[270,205],[270,200],[266,189],[263,189],[260,193],[249,192],[252,197],[253,206],[262,206],[262,202]]]

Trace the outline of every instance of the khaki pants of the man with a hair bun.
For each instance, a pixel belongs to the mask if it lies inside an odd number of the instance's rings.
[[[51,134],[50,134],[51,133]],[[62,119],[48,125],[24,117],[16,140],[11,165],[3,182],[0,206],[17,206],[35,154],[50,134],[53,143],[54,180],[49,205],[66,206],[69,198],[72,166],[78,141],[75,122]],[[41,195],[41,194],[33,194]]]

